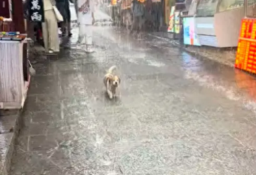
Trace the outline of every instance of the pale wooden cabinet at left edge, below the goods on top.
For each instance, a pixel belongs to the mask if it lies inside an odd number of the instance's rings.
[[[20,109],[27,97],[30,76],[24,44],[0,40],[0,109]]]

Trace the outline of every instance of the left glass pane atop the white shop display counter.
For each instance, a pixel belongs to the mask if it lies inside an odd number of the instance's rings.
[[[214,16],[218,0],[201,0],[198,4],[198,16]]]

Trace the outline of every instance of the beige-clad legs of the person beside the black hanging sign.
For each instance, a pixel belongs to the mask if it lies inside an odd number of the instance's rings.
[[[60,43],[58,40],[58,23],[53,10],[47,10],[49,16],[47,29],[49,32],[49,49],[53,52],[60,51]]]

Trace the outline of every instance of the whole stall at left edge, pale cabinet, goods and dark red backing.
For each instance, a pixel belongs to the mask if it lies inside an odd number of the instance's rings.
[[[0,32],[0,109],[20,109],[27,97],[30,82],[27,38],[22,0],[9,2],[12,5],[1,7],[7,8],[5,13],[10,11],[12,22],[2,22],[1,29],[4,31]],[[6,30],[3,25],[10,27]]]

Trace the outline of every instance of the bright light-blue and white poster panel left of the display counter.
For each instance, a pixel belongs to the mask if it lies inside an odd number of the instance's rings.
[[[194,17],[184,17],[183,18],[183,38],[185,45],[198,45],[199,38],[198,34],[196,34],[196,27]]]

